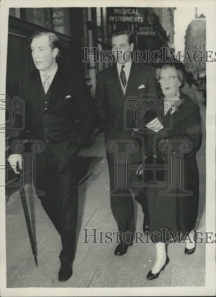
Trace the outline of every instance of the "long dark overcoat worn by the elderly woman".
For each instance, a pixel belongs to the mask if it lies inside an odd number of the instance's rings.
[[[162,140],[171,144],[172,149],[165,153],[165,165],[170,165],[168,154],[174,154],[173,156],[179,153],[183,154],[183,180],[180,179],[180,184],[175,189],[175,184],[171,184],[171,176],[174,174],[175,169],[171,165],[170,170],[165,170],[163,180],[165,186],[158,186],[157,184],[156,187],[155,181],[148,181],[150,230],[151,232],[160,233],[159,236],[155,236],[157,239],[162,239],[162,228],[168,229],[166,231],[167,239],[170,238],[168,231],[173,232],[173,234],[182,232],[182,235],[190,232],[195,227],[198,213],[199,173],[196,153],[200,149],[202,142],[200,108],[187,94],[181,93],[180,99],[183,101],[178,111],[171,115],[169,111],[166,116],[163,116],[162,125],[164,128],[158,133],[165,132],[166,135],[156,138],[155,146]],[[168,129],[170,118],[172,118],[171,129]],[[152,145],[155,135],[155,133],[149,134]],[[184,143],[187,144],[184,146]],[[182,149],[186,152],[182,153]],[[159,147],[156,149],[155,154],[157,157],[162,156]],[[177,176],[177,178],[179,181],[180,177]],[[162,193],[170,189],[170,187],[173,187],[172,195],[168,195],[171,193],[170,191]],[[189,192],[191,193],[189,194]]]

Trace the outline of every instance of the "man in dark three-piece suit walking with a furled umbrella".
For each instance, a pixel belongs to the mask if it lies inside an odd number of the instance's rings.
[[[41,204],[61,236],[59,280],[66,281],[72,275],[77,224],[76,159],[79,148],[94,131],[95,116],[84,80],[56,63],[60,48],[60,40],[52,32],[33,34],[31,50],[37,69],[20,76],[16,95],[24,100],[29,137],[45,146],[36,156],[36,189],[45,192],[39,197]],[[75,124],[77,114],[79,126]],[[11,143],[16,139],[20,136]],[[17,173],[20,155],[10,153],[8,161]]]

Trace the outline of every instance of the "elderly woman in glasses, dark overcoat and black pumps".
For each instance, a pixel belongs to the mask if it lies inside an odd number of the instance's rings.
[[[186,240],[184,253],[190,255],[195,251],[195,223],[198,213],[199,196],[199,174],[196,162],[196,153],[200,149],[202,141],[201,118],[199,106],[184,93],[180,88],[185,82],[185,68],[180,62],[161,63],[155,69],[155,79],[162,90],[162,97],[166,97],[167,102],[163,102],[163,114],[160,124],[162,129],[149,133],[150,143],[157,147],[154,151],[157,157],[162,157],[162,151],[157,144],[162,141],[172,145],[172,153],[180,153],[181,143],[189,143],[191,150],[183,155],[183,189],[173,187],[172,195],[161,195],[165,192],[170,183],[170,172],[165,170],[163,183],[161,186],[156,181],[148,181],[148,205],[150,213],[150,232],[154,233],[156,242],[156,261],[147,279],[155,279],[159,273],[169,263],[166,255],[165,242],[170,241],[170,234],[176,237],[178,234],[184,237],[189,234],[190,239]],[[172,121],[170,119],[172,118]],[[170,124],[171,123],[171,124]],[[171,125],[171,129],[169,128]],[[148,124],[147,124],[148,127]],[[166,129],[167,128],[167,129]],[[153,132],[151,130],[151,132]],[[157,131],[157,132],[155,132]],[[161,132],[166,132],[166,136],[161,136]],[[176,141],[175,141],[176,140]],[[171,153],[170,152],[170,153]],[[168,153],[163,153],[165,165],[168,164]],[[157,186],[154,186],[157,185]],[[187,195],[190,192],[190,195]],[[164,230],[167,229],[166,233]],[[180,232],[180,233],[178,233]],[[166,234],[164,236],[164,234]],[[189,238],[189,237],[188,237]]]

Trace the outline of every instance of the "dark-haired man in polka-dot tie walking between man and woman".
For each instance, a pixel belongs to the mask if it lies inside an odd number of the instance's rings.
[[[109,140],[118,143],[118,154],[124,154],[125,143],[121,140],[134,140],[131,131],[125,129],[124,121],[134,131],[137,127],[134,123],[134,114],[124,115],[124,102],[129,96],[141,94],[156,94],[157,89],[153,77],[153,68],[140,63],[126,62],[130,60],[130,53],[133,51],[134,36],[127,30],[114,30],[109,35],[112,43],[112,51],[121,51],[119,55],[114,53],[114,65],[98,72],[96,85],[96,105],[101,119],[105,123],[105,143]],[[126,60],[126,61],[125,61]],[[135,110],[134,110],[135,111]],[[139,137],[138,137],[139,138]],[[137,138],[137,139],[138,139]],[[140,138],[139,138],[140,139]],[[142,143],[142,141],[141,141]],[[139,149],[130,154],[130,164],[138,164],[142,159],[143,146],[139,141]],[[107,161],[109,164],[110,191],[115,188],[115,164],[114,154],[107,151]],[[130,183],[138,181],[135,170],[130,170]],[[131,187],[132,190],[137,190]],[[135,196],[141,204],[144,213],[143,231],[149,231],[149,212],[145,187],[138,188],[139,195]],[[118,189],[118,193],[110,195],[111,209],[117,222],[119,232],[134,233],[134,205],[132,196],[125,189]],[[131,236],[127,234],[125,240],[121,238],[120,244],[115,249],[115,255],[123,255],[127,252]],[[128,244],[127,242],[130,242]]]

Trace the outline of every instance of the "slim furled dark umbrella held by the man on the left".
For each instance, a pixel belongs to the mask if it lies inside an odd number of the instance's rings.
[[[19,183],[21,185],[22,184],[21,183],[21,172],[20,172],[20,174],[18,174],[18,176],[19,176],[18,177]],[[30,219],[29,219],[29,211],[28,211],[28,206],[26,203],[26,195],[25,195],[25,191],[22,187],[20,190],[20,196],[21,196],[21,200],[22,200],[22,204],[23,204],[23,210],[24,210],[26,225],[27,225],[27,229],[28,229],[28,233],[29,233],[29,239],[30,239],[30,243],[31,243],[31,247],[32,247],[32,253],[35,257],[35,264],[37,266],[37,253],[36,253],[36,249],[35,249],[35,242],[34,242],[34,238],[32,235],[32,227],[31,227],[31,223],[30,223]]]

